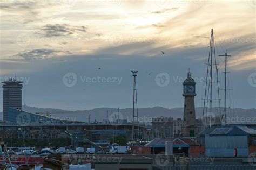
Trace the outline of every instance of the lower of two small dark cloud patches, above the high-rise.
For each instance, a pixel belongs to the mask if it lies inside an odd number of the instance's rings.
[[[32,49],[31,51],[19,52],[14,56],[16,59],[34,60],[34,59],[48,59],[58,54],[71,54],[69,51],[59,51],[55,49]]]

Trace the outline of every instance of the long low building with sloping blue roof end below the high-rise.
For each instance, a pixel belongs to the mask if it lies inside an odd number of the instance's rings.
[[[7,123],[0,123],[0,135],[6,138],[24,139],[50,139],[71,138],[73,144],[83,143],[83,140],[94,142],[107,142],[118,135],[124,136],[128,141],[132,139],[132,124],[123,121],[114,123],[83,123],[60,120],[52,117],[32,114],[30,112],[9,108]],[[149,128],[134,126],[135,139],[149,140]],[[139,134],[139,135],[138,135]]]

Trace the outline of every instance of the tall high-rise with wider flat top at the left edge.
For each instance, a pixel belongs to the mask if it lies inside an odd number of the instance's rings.
[[[9,79],[3,81],[3,120],[7,121],[8,109],[22,110],[22,81]]]

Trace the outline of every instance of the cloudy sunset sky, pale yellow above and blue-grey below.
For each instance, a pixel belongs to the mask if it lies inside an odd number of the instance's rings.
[[[190,68],[201,107],[213,29],[219,70],[218,55],[232,55],[228,106],[255,108],[255,1],[2,0],[0,10],[0,78],[24,82],[26,105],[132,107],[138,70],[139,108],[183,107]]]

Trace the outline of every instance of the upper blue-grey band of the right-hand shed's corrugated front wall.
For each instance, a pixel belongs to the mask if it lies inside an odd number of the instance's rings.
[[[247,136],[206,136],[205,148],[248,148]]]

